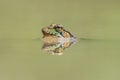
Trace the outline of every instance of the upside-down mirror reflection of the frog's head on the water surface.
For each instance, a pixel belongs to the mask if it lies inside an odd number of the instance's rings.
[[[69,48],[71,45],[75,44],[76,41],[67,41],[60,43],[43,43],[42,49],[48,52],[51,55],[62,55],[63,51],[66,48]]]

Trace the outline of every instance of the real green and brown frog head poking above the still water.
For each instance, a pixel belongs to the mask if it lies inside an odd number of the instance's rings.
[[[51,24],[48,27],[42,28],[43,37],[57,36],[62,38],[74,37],[69,31],[63,28],[61,24]]]

